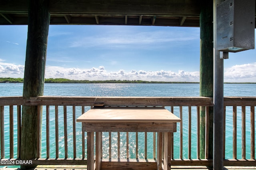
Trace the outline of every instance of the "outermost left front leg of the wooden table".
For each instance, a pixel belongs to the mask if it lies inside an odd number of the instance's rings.
[[[87,132],[87,170],[94,170],[94,132]]]

